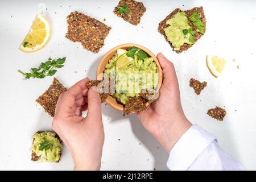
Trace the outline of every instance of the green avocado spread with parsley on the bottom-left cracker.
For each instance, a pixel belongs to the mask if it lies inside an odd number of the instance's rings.
[[[47,131],[34,134],[32,151],[39,156],[39,162],[58,162],[60,160],[60,151],[63,146],[55,135],[55,133]]]

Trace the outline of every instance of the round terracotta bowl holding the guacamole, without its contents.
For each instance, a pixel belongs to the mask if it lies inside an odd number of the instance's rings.
[[[150,50],[148,50],[147,48],[143,47],[143,46],[139,46],[138,44],[122,44],[120,46],[114,47],[112,49],[110,49],[109,52],[107,52],[101,59],[100,64],[98,65],[97,68],[97,72],[96,72],[96,79],[97,80],[101,80],[102,77],[99,77],[98,75],[100,75],[101,73],[104,72],[105,70],[105,65],[109,63],[109,60],[112,59],[112,57],[114,56],[115,52],[117,52],[118,48],[122,48],[122,49],[129,49],[130,47],[138,47],[139,49],[143,50],[144,52],[147,53],[148,56],[152,57],[158,67],[158,72],[159,72],[159,82],[158,82],[158,88],[157,91],[160,89],[160,87],[162,86],[162,82],[163,82],[163,73],[162,73],[162,68],[160,67],[159,61],[158,59],[156,59],[156,56],[154,55],[154,53],[152,53]],[[119,102],[117,102],[116,100],[114,100],[113,97],[108,97],[106,100],[106,103],[110,106],[112,106],[114,109],[118,109],[120,111],[123,111],[123,105],[120,104]],[[152,101],[148,101],[146,103],[146,106],[149,106],[152,103]]]

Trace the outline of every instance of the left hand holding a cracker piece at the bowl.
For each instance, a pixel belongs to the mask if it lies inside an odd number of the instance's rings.
[[[52,122],[53,130],[71,152],[75,170],[99,170],[101,166],[104,144],[101,99],[96,86],[86,88],[88,81],[85,78],[61,94]],[[84,118],[82,111],[87,107]]]

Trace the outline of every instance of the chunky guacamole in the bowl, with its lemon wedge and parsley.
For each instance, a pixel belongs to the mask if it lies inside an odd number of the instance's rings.
[[[159,82],[158,66],[153,57],[134,46],[117,49],[105,65],[104,73],[114,79],[114,90],[110,96],[123,105],[126,105],[131,97],[152,92]]]

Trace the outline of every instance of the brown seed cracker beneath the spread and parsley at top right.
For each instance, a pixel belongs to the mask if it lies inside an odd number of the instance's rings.
[[[166,41],[170,44],[170,46],[172,47],[172,49],[174,50],[174,46],[172,46],[172,43],[168,40],[165,32],[164,32],[164,28],[167,28],[168,26],[170,26],[169,24],[167,24],[167,20],[168,19],[171,19],[171,18],[174,18],[174,16],[177,14],[177,13],[180,13],[182,10],[181,9],[175,9],[174,11],[172,11],[172,13],[168,16],[166,16],[166,18],[164,20],[162,20],[162,22],[159,23],[159,27],[158,27],[158,31],[160,32],[160,34],[162,34],[164,36],[164,38],[166,39]],[[200,16],[201,16],[201,21],[204,23],[204,27],[205,27],[205,30],[204,30],[204,33],[206,31],[206,22],[207,20],[205,19],[205,15],[204,15],[204,9],[203,7],[194,7],[193,9],[191,10],[186,10],[184,11],[185,12],[185,15],[187,16],[187,18],[192,14],[192,13],[198,13]],[[196,27],[193,25],[193,23],[188,19],[188,24],[189,26],[192,27],[192,29],[194,31],[196,31]],[[187,43],[184,43],[179,50],[174,50],[176,51],[177,53],[181,53],[183,51],[186,51],[187,49],[191,48],[196,42],[197,40],[199,40],[201,38],[201,36],[203,36],[203,34],[201,34],[200,32],[196,32],[196,34],[194,35],[195,36],[195,42],[190,45],[190,44],[187,44]]]

